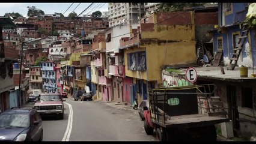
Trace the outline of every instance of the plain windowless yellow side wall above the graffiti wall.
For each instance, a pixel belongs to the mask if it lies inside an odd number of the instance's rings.
[[[162,83],[162,69],[165,65],[187,64],[197,61],[195,41],[183,41],[179,43],[147,44],[147,71],[148,80],[157,80]]]

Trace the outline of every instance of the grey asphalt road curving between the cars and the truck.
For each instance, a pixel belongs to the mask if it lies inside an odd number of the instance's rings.
[[[43,117],[43,141],[155,141],[136,110],[115,109],[97,101],[64,102],[64,119]],[[72,107],[72,109],[71,109]]]

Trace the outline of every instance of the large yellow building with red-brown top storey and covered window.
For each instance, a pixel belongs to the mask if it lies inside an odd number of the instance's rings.
[[[153,13],[130,28],[130,38],[121,38],[127,77],[133,77],[138,103],[147,99],[147,89],[162,83],[164,65],[197,62],[194,13]]]

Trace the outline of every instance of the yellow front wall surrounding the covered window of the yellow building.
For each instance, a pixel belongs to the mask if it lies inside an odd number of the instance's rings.
[[[126,76],[147,80],[147,71],[131,71],[131,70],[128,70],[127,54],[128,53],[133,53],[133,52],[145,52],[145,47],[129,48],[128,50],[124,49],[124,65],[126,65],[126,67],[125,67]]]

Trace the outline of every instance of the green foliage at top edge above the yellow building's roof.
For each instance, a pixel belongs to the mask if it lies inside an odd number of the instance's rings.
[[[206,3],[188,3],[188,2],[182,2],[182,3],[166,3],[163,2],[159,5],[158,9],[159,11],[183,11],[184,7],[198,7],[198,6],[203,6]]]

